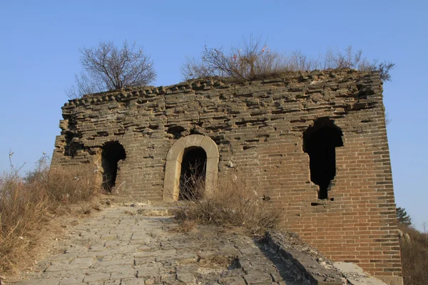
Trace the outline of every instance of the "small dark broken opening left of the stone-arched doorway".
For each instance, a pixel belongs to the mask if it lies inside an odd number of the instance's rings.
[[[119,142],[106,142],[101,152],[101,166],[103,167],[103,189],[111,192],[116,184],[118,162],[125,160],[126,152]]]

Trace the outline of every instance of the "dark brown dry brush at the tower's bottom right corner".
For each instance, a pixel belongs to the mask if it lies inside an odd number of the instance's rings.
[[[410,242],[400,239],[404,284],[428,284],[428,234],[405,224],[399,229],[410,237]]]

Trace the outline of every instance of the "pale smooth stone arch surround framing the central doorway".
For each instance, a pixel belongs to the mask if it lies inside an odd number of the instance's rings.
[[[202,149],[206,154],[205,193],[215,189],[218,175],[218,147],[206,135],[188,135],[177,140],[166,155],[163,201],[178,200],[183,155],[195,147]]]

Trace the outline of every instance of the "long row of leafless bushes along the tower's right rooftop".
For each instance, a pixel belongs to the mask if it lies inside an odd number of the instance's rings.
[[[261,38],[244,38],[238,47],[225,51],[223,47],[205,46],[200,60],[187,59],[181,68],[185,80],[220,76],[235,81],[263,79],[278,76],[288,71],[309,71],[329,68],[352,68],[361,71],[379,71],[382,80],[390,81],[389,71],[394,63],[370,62],[362,51],[354,52],[352,47],[345,51],[327,51],[324,56],[310,58],[300,51],[290,55],[270,51]]]

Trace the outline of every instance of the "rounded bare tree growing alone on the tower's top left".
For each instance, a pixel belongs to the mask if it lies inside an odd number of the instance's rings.
[[[83,47],[80,52],[83,71],[75,76],[76,85],[66,90],[69,98],[129,86],[146,86],[156,79],[151,57],[136,43],[129,45],[124,41],[118,48],[113,41],[100,41],[98,46]]]

